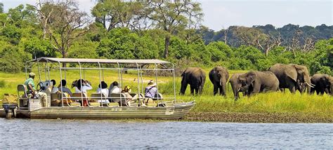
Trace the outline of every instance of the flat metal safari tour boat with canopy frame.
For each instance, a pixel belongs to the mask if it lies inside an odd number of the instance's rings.
[[[2,114],[6,113],[6,118],[161,118],[178,119],[182,118],[195,102],[176,102],[176,84],[174,64],[163,60],[107,60],[107,59],[77,59],[77,58],[54,58],[39,57],[25,64],[25,78],[28,78],[28,71],[37,69],[35,81],[38,81],[37,91],[45,90],[51,84],[51,73],[55,71],[60,76],[60,81],[67,79],[69,70],[76,70],[78,79],[86,79],[86,71],[93,71],[98,74],[98,83],[104,81],[105,71],[113,71],[117,74],[119,88],[124,86],[123,76],[125,71],[135,74],[136,93],[130,93],[135,100],[131,104],[124,103],[126,95],[115,93],[104,95],[103,93],[73,93],[72,97],[62,93],[48,94],[47,104],[41,104],[41,100],[27,95],[27,87],[18,85],[18,106],[4,104]],[[78,71],[77,71],[78,70]],[[159,90],[159,72],[171,74],[173,76],[173,89],[171,97],[163,97],[161,94],[155,95],[154,103],[145,104],[145,85],[143,74],[154,74],[157,93]],[[73,72],[70,72],[73,74]],[[42,76],[45,80],[42,80]],[[133,78],[133,77],[131,77]],[[150,78],[152,78],[150,76]],[[81,83],[82,85],[82,83]],[[54,85],[56,86],[56,85]],[[60,83],[62,87],[62,83]],[[111,92],[111,91],[110,91]],[[58,100],[55,106],[51,103]],[[94,100],[94,101],[93,101]],[[69,102],[72,101],[72,102]],[[133,102],[132,102],[133,101]],[[46,106],[45,106],[46,105]],[[43,107],[44,106],[44,107]],[[4,117],[5,115],[2,115]]]

